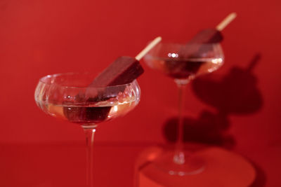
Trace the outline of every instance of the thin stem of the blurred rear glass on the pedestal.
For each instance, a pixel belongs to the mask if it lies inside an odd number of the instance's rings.
[[[178,165],[183,165],[185,162],[185,154],[183,152],[183,110],[187,83],[188,80],[176,80],[176,85],[178,86],[178,139],[176,142],[174,162]]]

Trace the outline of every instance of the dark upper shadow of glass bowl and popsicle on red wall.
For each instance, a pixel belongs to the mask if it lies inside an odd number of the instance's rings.
[[[223,114],[221,116],[255,113],[263,106],[261,92],[256,86],[258,78],[252,72],[260,59],[258,53],[247,68],[233,67],[225,76],[199,77],[193,81],[192,89],[202,102]]]

